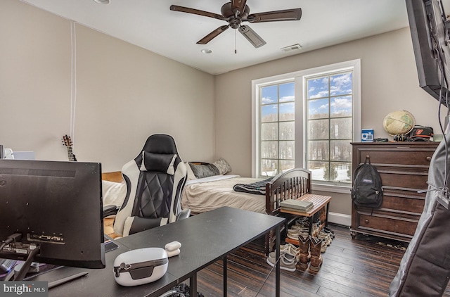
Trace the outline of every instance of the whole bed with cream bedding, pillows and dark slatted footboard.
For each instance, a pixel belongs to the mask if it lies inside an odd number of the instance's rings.
[[[198,165],[196,163],[195,165]],[[214,163],[213,163],[214,164]],[[209,163],[201,163],[211,167]],[[217,165],[217,164],[216,164]],[[219,166],[220,167],[220,166]],[[193,163],[189,168],[195,168]],[[222,206],[231,206],[243,210],[250,210],[267,215],[281,215],[280,203],[285,199],[299,198],[311,192],[311,172],[303,168],[294,168],[271,178],[266,182],[264,191],[259,194],[238,192],[233,189],[236,184],[253,184],[264,179],[227,175],[228,170],[216,170],[214,175],[202,177],[195,171],[198,177],[189,174],[181,198],[181,208],[191,209],[191,214],[204,213]],[[217,173],[217,174],[215,174]],[[206,174],[208,175],[208,174]],[[203,175],[205,176],[205,175]],[[126,186],[122,180],[121,172],[106,172],[103,179],[103,205],[122,205]],[[105,219],[105,234],[115,237],[112,224],[113,219]],[[274,234],[266,235],[265,251],[269,253],[274,246]]]

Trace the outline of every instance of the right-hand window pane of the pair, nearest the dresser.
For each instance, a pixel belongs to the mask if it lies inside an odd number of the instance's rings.
[[[304,77],[311,179],[352,182],[353,70]]]

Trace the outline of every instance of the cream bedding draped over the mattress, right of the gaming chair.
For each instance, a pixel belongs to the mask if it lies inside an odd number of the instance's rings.
[[[238,175],[217,175],[186,182],[181,198],[181,208],[189,208],[193,213],[230,206],[255,213],[266,213],[266,196],[237,192],[235,184],[250,184],[262,179],[240,177]]]

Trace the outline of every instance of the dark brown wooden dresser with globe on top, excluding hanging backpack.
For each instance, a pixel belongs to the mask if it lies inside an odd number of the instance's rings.
[[[352,143],[352,172],[370,159],[380,173],[383,205],[364,208],[352,203],[352,237],[357,233],[411,241],[428,189],[428,168],[437,142]],[[353,177],[354,178],[354,177]]]

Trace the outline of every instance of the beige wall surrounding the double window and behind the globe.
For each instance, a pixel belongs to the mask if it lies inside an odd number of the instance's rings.
[[[233,173],[251,175],[252,80],[356,58],[361,59],[363,128],[373,128],[375,137],[392,139],[383,129],[383,119],[394,110],[406,109],[418,125],[439,133],[438,104],[418,87],[411,34],[404,28],[216,76],[216,155],[229,161]],[[317,194],[333,196],[331,212],[351,213],[349,194]]]

